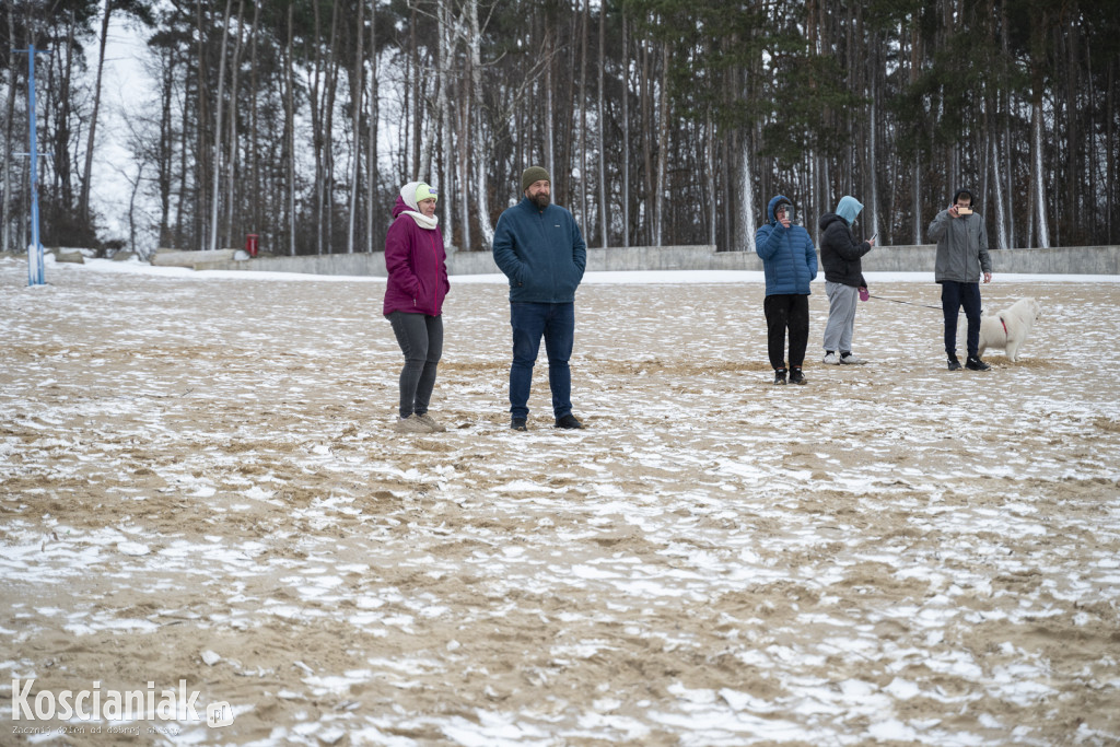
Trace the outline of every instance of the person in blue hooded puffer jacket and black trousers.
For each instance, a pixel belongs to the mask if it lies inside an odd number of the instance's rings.
[[[793,202],[777,195],[766,206],[767,223],[755,233],[755,253],[766,276],[767,349],[774,383],[786,382],[785,336],[790,332],[790,383],[804,384],[801,366],[809,345],[809,283],[816,277],[816,249],[793,223]]]

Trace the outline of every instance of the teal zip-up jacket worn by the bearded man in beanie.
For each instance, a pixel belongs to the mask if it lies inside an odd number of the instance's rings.
[[[528,197],[494,230],[494,262],[510,279],[510,301],[571,304],[587,267],[587,244],[571,213]]]

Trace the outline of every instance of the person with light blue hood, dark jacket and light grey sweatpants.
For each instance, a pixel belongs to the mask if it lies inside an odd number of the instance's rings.
[[[856,306],[860,295],[867,291],[860,258],[875,245],[874,237],[857,242],[851,233],[856,216],[862,209],[858,199],[844,195],[837,204],[837,212],[825,213],[819,223],[824,292],[829,295],[829,320],[824,325],[824,363],[829,365],[867,363],[851,352]]]

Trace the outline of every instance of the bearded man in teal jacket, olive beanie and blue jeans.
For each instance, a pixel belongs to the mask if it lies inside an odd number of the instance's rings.
[[[494,262],[510,279],[510,427],[528,430],[529,390],[544,337],[557,428],[582,428],[571,414],[568,360],[576,335],[576,289],[587,267],[587,244],[571,213],[552,205],[552,184],[539,166],[521,176],[524,198],[494,230]]]

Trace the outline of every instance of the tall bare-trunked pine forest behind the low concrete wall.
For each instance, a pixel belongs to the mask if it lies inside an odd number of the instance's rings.
[[[958,186],[993,246],[1120,234],[1113,0],[9,0],[3,249],[27,245],[27,55],[43,241],[142,253],[377,251],[399,186],[488,249],[531,164],[590,246],[749,250],[767,199],[844,194],[922,243]],[[144,29],[129,236],[91,203],[111,20]]]

